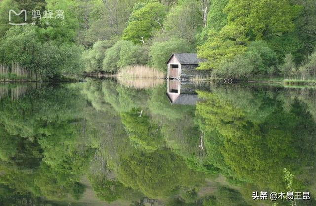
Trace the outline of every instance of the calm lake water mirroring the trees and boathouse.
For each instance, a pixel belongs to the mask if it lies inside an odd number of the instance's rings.
[[[315,165],[313,89],[0,84],[0,206],[316,206]]]

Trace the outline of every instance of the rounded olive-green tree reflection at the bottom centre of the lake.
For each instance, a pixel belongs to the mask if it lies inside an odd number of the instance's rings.
[[[148,197],[176,194],[181,186],[201,182],[201,176],[190,170],[183,159],[171,151],[135,151],[118,165],[118,180],[142,191]]]

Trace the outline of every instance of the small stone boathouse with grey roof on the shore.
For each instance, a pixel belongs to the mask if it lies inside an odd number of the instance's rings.
[[[196,70],[201,61],[195,53],[173,53],[167,62],[168,79],[189,79],[204,75],[205,71]]]

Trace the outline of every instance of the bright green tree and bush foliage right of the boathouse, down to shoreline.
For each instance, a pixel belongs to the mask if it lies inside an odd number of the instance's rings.
[[[214,8],[210,10],[210,14],[216,11],[218,16],[208,25],[211,28],[208,40],[197,47],[199,57],[208,60],[201,63],[199,69],[213,69],[214,74],[221,77],[269,75],[276,72],[274,67],[277,64],[276,55],[269,46],[277,52],[277,57],[285,55],[284,50],[292,52],[299,48],[298,41],[286,44],[273,40],[284,39],[284,35],[294,30],[294,19],[301,6],[291,5],[289,0],[229,0],[224,9],[223,5],[224,2],[219,4],[215,1]],[[260,54],[251,48],[254,44],[248,49],[251,42],[258,40],[268,40],[269,44],[265,45],[263,52],[256,49]]]

